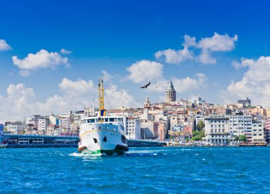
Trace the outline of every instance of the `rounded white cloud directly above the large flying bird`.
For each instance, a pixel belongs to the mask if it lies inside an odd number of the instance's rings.
[[[163,65],[150,60],[141,60],[129,68],[128,78],[136,83],[156,81],[163,77]]]

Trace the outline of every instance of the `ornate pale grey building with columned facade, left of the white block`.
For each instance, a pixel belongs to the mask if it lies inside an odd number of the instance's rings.
[[[228,144],[229,118],[225,116],[212,116],[205,118],[205,137],[202,141],[211,145]]]

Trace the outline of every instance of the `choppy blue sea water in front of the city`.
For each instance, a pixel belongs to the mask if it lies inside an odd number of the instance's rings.
[[[0,149],[0,193],[270,193],[270,147]]]

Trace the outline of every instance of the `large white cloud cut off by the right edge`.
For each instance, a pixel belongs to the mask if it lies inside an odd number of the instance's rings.
[[[237,64],[237,65],[235,65]],[[234,61],[237,68],[247,67],[242,80],[230,83],[222,97],[235,101],[238,98],[249,97],[254,104],[270,106],[270,56],[261,56],[257,60],[244,59]]]

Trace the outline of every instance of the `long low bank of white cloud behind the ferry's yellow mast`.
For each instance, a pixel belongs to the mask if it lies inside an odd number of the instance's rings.
[[[58,85],[63,92],[52,95],[45,101],[38,100],[33,88],[23,83],[9,85],[6,97],[0,95],[0,123],[22,120],[32,114],[65,114],[70,110],[82,110],[84,107],[97,107],[97,87],[92,80],[69,80],[64,78]],[[105,85],[105,107],[137,107],[138,104],[129,91],[116,85]]]

